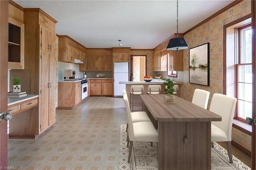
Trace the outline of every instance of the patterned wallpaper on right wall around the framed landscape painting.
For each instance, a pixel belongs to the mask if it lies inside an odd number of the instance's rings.
[[[189,49],[183,51],[184,85],[181,97],[192,101],[194,90],[210,91],[208,108],[214,93],[223,93],[223,26],[251,13],[251,1],[244,0],[216,16],[207,23],[184,35],[190,48],[210,42],[210,86],[189,83]],[[251,150],[251,136],[232,128],[232,140],[244,148]]]

